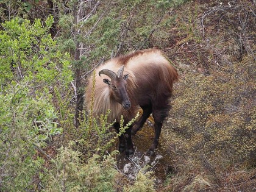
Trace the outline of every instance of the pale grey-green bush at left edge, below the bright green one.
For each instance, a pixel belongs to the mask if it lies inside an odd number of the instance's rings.
[[[37,149],[45,146],[57,127],[54,107],[44,98],[31,98],[29,89],[16,86],[0,94],[0,189],[26,191],[44,177],[44,160]],[[14,187],[15,186],[15,187]]]

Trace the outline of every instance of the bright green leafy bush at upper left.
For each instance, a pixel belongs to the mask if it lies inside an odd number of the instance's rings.
[[[49,17],[44,25],[40,20],[30,24],[20,18],[2,24],[1,90],[23,80],[38,88],[66,86],[70,82],[69,57],[55,49],[56,42],[49,34],[52,23],[53,18]]]

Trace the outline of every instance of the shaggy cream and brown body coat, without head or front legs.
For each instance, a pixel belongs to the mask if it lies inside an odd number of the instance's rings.
[[[116,73],[122,65],[124,65],[124,74],[129,74],[127,95],[131,107],[128,110],[113,99],[111,88],[103,82],[103,79],[109,79],[109,77],[98,75],[102,69],[109,69]],[[144,49],[110,59],[96,69],[93,114],[95,116],[105,114],[110,109],[108,121],[116,120],[119,123],[119,119],[123,115],[124,123],[128,123],[135,117],[138,110],[137,106],[140,105],[145,110],[145,114],[143,113],[144,118],[139,120],[140,123],[135,124],[135,127],[132,128],[133,133],[136,133],[143,126],[151,112],[154,120],[160,123],[160,128],[155,126],[155,129],[161,130],[162,121],[169,112],[172,87],[178,79],[176,69],[158,49]],[[92,89],[93,77],[90,77],[85,92],[87,107],[91,106]],[[154,144],[151,149],[154,151],[156,146],[157,144]]]

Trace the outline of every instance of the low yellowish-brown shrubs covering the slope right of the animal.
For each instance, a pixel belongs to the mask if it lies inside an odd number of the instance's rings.
[[[180,81],[166,125],[175,152],[202,165],[207,160],[218,171],[232,163],[255,165],[256,82],[248,61],[252,58],[210,76],[187,74]]]

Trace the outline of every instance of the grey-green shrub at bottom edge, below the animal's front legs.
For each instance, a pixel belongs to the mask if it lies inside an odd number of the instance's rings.
[[[77,151],[71,147],[59,149],[52,160],[52,169],[44,191],[115,191],[115,177],[118,174],[113,155],[93,155],[82,162]]]

